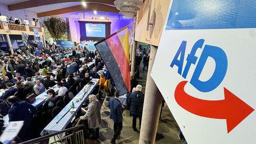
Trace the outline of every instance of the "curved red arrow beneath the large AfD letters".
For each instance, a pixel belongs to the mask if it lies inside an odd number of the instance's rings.
[[[231,91],[224,88],[225,100],[201,100],[184,91],[187,81],[180,82],[175,89],[175,100],[190,113],[213,119],[226,119],[228,133],[254,111]]]

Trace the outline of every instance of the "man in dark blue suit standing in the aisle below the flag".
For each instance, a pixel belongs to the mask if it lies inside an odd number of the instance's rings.
[[[110,108],[110,119],[114,121],[114,136],[111,139],[111,143],[116,143],[117,136],[120,135],[121,129],[123,129],[123,107],[119,100],[119,94],[116,91],[114,98],[110,98],[108,107]]]

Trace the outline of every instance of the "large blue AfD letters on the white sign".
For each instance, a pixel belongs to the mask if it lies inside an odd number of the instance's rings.
[[[171,68],[176,65],[178,66],[178,73],[183,76],[183,78],[187,78],[187,73],[190,69],[190,66],[195,65],[197,62],[197,57],[195,56],[197,49],[202,49],[204,43],[204,39],[200,39],[196,41],[194,46],[191,49],[190,54],[187,56],[187,63],[183,70],[183,62],[184,62],[184,53],[187,41],[183,41],[181,43],[180,48],[178,49],[174,59],[171,63]],[[181,56],[180,56],[181,55]],[[180,60],[178,60],[178,56],[180,56]],[[212,76],[207,81],[200,81],[200,75],[203,71],[204,65],[208,57],[212,57],[215,60],[215,71]],[[203,48],[203,52],[199,58],[199,62],[197,63],[196,69],[194,70],[193,76],[190,80],[190,84],[192,84],[196,89],[201,92],[209,92],[213,89],[217,88],[223,79],[225,78],[226,71],[228,69],[228,58],[226,53],[220,49],[220,47],[205,45]],[[181,74],[182,73],[182,74]]]

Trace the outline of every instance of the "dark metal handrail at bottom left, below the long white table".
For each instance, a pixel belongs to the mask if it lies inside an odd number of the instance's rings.
[[[52,136],[59,135],[60,133],[68,132],[68,131],[70,131],[70,130],[78,129],[79,127],[84,127],[84,124],[79,125],[79,126],[75,126],[75,127],[71,127],[71,128],[69,128],[69,129],[65,129],[65,130],[62,130],[62,131],[60,131],[60,132],[53,133],[53,134],[50,134],[50,135],[38,137],[38,138],[36,138],[36,139],[27,140],[26,142],[21,142],[21,144],[30,144],[30,143],[40,142],[41,140],[48,139],[48,138],[50,138],[50,137],[52,137]]]

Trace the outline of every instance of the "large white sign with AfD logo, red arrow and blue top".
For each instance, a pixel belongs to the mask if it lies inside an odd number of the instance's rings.
[[[256,1],[172,1],[151,76],[188,143],[255,143]]]

